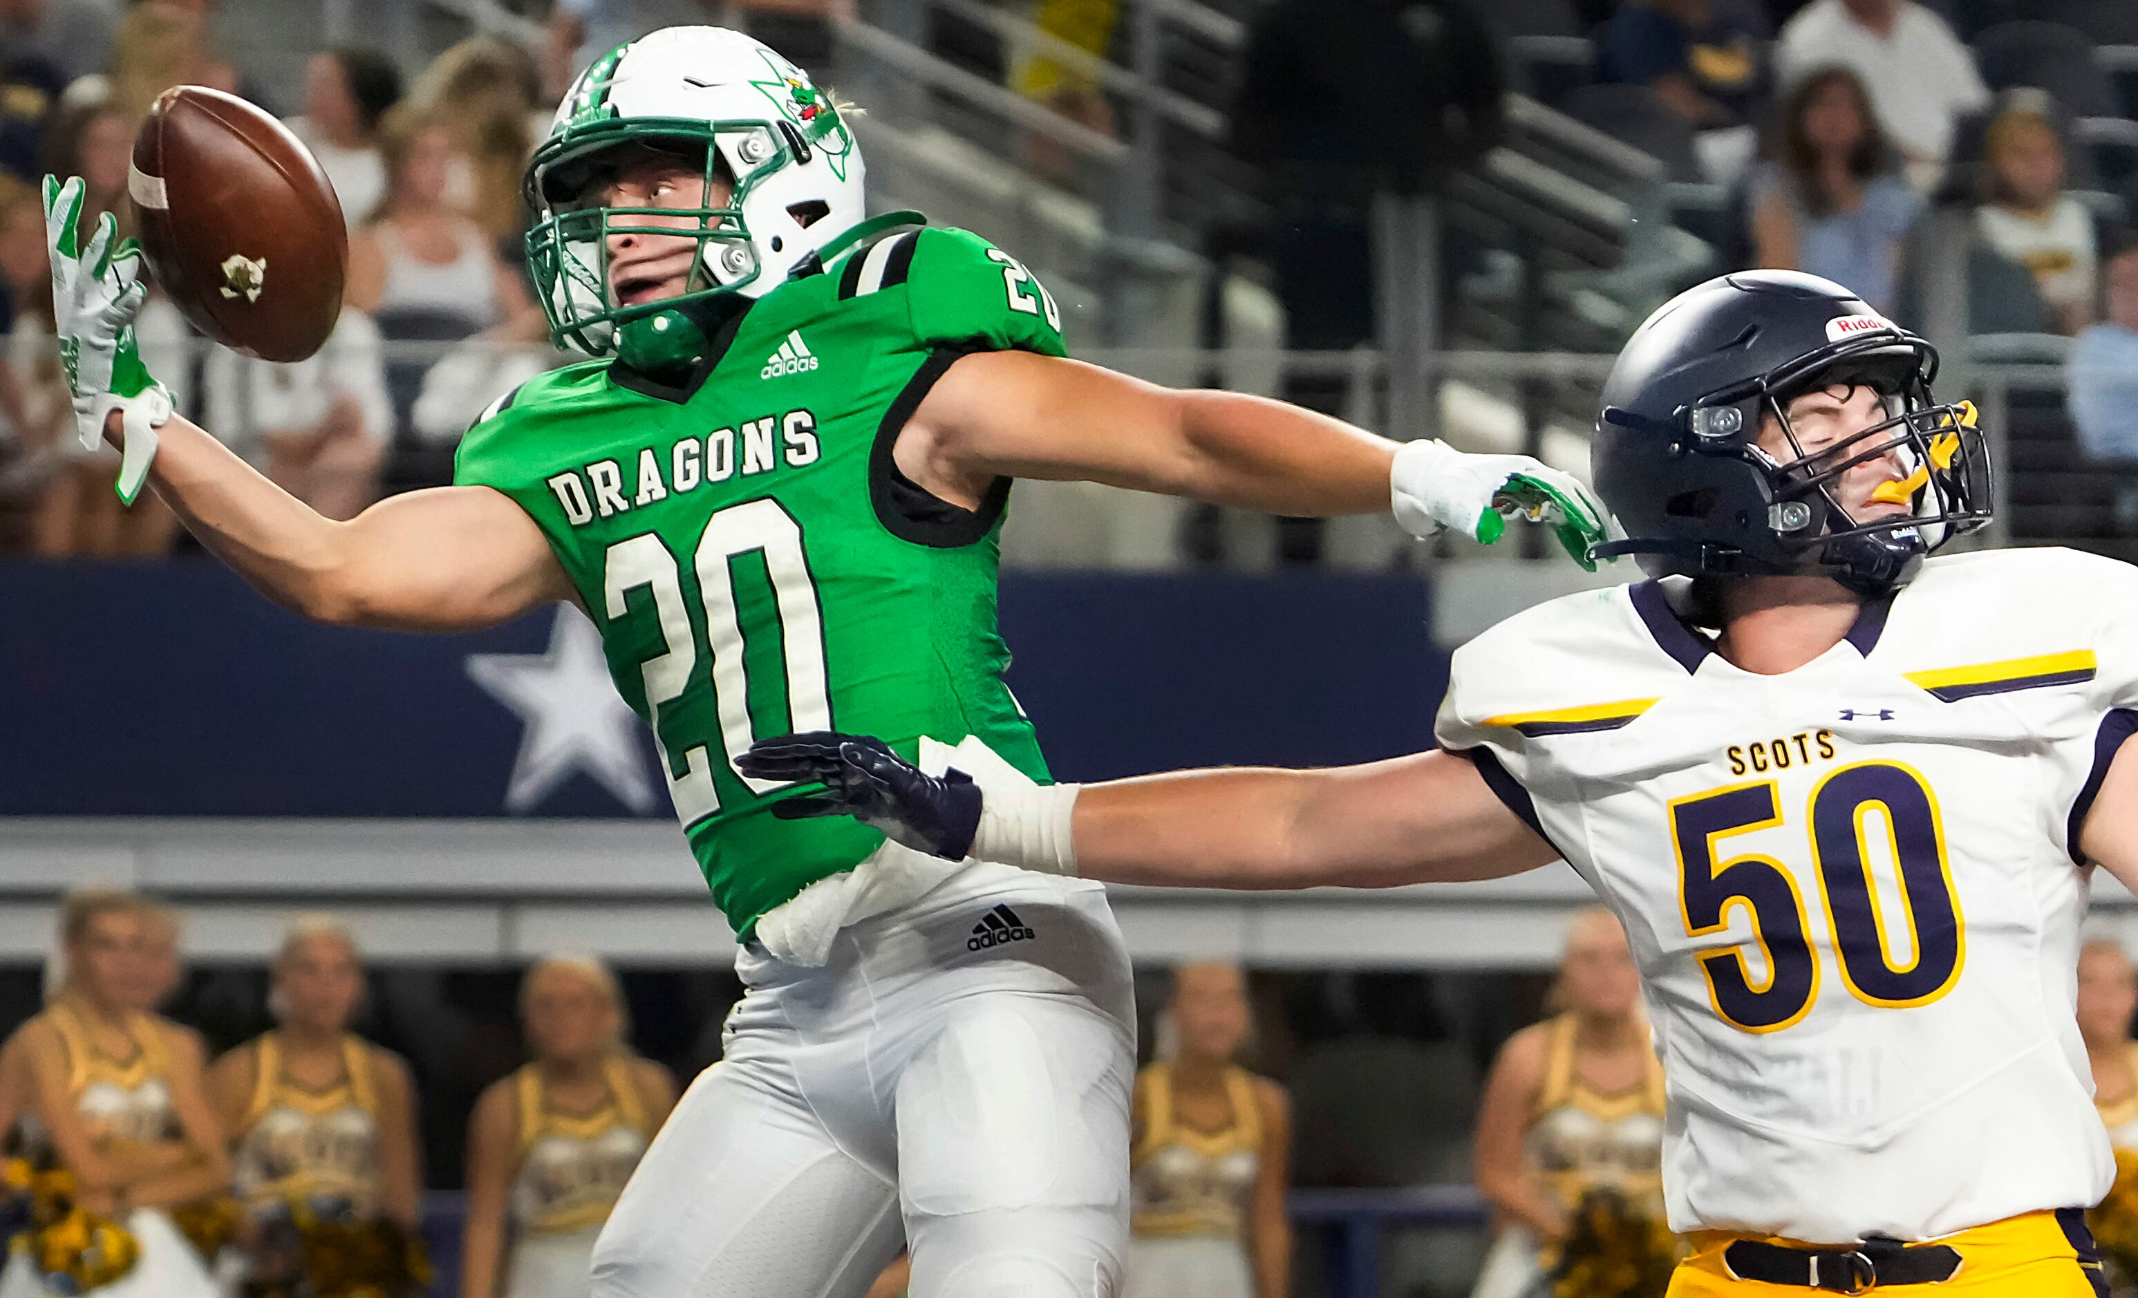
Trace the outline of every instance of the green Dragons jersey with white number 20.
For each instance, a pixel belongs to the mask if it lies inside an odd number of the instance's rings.
[[[1048,778],[1003,684],[1009,481],[966,511],[892,460],[943,370],[1001,349],[1063,355],[1045,289],[977,235],[902,227],[750,304],[684,387],[554,370],[460,445],[455,481],[517,500],[594,616],[740,937],[883,843],[845,817],[776,819],[793,787],[733,768],[753,740],[842,729],[915,759],[921,736],[979,736]]]

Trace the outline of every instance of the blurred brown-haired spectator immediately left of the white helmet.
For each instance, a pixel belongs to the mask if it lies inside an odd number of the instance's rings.
[[[541,103],[534,58],[505,36],[468,36],[423,68],[408,103],[453,135],[449,201],[500,242],[507,257],[517,257],[528,222],[520,182],[534,152],[534,122],[547,135],[556,111],[554,103]]]

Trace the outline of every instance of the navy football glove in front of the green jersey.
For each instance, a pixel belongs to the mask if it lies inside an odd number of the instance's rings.
[[[979,785],[962,770],[932,776],[883,740],[819,729],[776,740],[759,740],[735,759],[735,770],[755,781],[823,785],[823,793],[783,798],[772,815],[800,821],[819,815],[851,815],[883,830],[894,843],[962,862],[979,830]]]

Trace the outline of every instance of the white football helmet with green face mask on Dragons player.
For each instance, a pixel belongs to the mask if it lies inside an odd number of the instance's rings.
[[[605,207],[597,154],[652,145],[706,158],[706,192],[731,182],[725,207]],[[663,28],[607,51],[556,109],[528,165],[528,267],[560,344],[588,355],[676,355],[697,327],[688,308],[721,295],[763,297],[866,216],[862,150],[832,96],[770,45],[727,28]],[[697,263],[680,297],[618,306],[611,233],[680,233],[635,216],[697,218]],[[686,233],[686,231],[684,231]]]

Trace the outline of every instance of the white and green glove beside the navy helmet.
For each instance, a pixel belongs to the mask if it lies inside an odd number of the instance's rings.
[[[1405,443],[1390,473],[1396,522],[1424,541],[1441,528],[1490,545],[1505,515],[1541,522],[1591,573],[1589,547],[1610,535],[1610,511],[1574,475],[1529,455],[1471,455],[1443,441]]]

